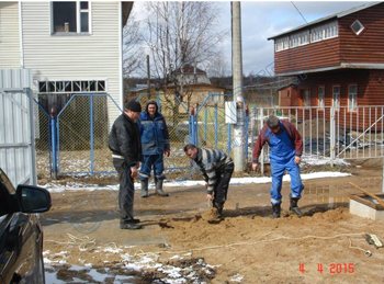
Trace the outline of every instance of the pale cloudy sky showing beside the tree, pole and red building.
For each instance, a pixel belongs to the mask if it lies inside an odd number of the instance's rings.
[[[230,2],[215,3],[219,8],[219,27],[229,32]],[[240,1],[244,73],[272,75],[273,41],[268,41],[268,37],[364,3],[369,1]],[[133,13],[137,20],[144,19],[144,1],[134,3]],[[221,44],[228,72],[231,61],[230,42],[228,36]]]

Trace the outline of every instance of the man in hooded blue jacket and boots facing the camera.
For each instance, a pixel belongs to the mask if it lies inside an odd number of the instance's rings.
[[[142,168],[138,173],[142,183],[142,197],[148,197],[148,180],[154,169],[156,193],[160,196],[168,196],[162,190],[163,155],[169,157],[169,134],[166,120],[158,111],[155,101],[149,101],[140,114],[140,139],[142,139]]]

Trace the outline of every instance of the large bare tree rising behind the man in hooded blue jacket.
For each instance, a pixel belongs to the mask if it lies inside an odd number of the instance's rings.
[[[153,73],[161,79],[160,88],[166,94],[168,84],[173,86],[173,96],[166,99],[177,115],[188,89],[180,79],[181,67],[206,66],[217,55],[216,46],[226,33],[216,29],[218,8],[214,2],[151,1],[147,2],[147,10],[146,43],[153,57]]]

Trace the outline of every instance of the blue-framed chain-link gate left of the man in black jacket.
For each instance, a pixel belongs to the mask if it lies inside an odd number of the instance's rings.
[[[55,110],[36,103],[37,164],[42,177],[114,172],[108,148],[108,104],[121,110],[108,93],[75,93],[61,109]]]

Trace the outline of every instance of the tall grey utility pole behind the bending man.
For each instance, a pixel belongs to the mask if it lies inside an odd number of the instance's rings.
[[[231,72],[237,122],[234,127],[235,172],[245,170],[245,102],[242,98],[241,9],[240,2],[230,2],[231,9]]]

